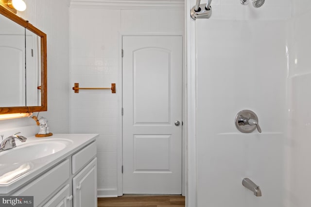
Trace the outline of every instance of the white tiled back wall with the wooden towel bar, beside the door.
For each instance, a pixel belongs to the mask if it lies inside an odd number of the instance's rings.
[[[117,144],[121,139],[121,33],[184,31],[184,9],[163,10],[156,8],[161,5],[149,7],[139,1],[127,1],[126,6],[112,1],[81,2],[71,1],[70,6],[71,85],[78,82],[80,87],[110,87],[116,83],[117,93],[70,92],[70,132],[100,134],[98,195],[116,196]]]

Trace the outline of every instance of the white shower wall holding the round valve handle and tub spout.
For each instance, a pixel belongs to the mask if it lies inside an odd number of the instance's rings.
[[[266,1],[258,9],[239,0],[211,5],[210,19],[187,19],[197,57],[191,68],[197,75],[196,174],[188,175],[197,182],[190,204],[281,207],[290,1]],[[257,113],[262,133],[236,129],[234,118],[243,109]],[[262,197],[242,186],[245,177],[260,186]]]

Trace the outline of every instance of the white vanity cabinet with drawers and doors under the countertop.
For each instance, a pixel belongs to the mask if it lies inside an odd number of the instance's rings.
[[[96,142],[70,152],[11,195],[34,196],[34,207],[97,207]]]

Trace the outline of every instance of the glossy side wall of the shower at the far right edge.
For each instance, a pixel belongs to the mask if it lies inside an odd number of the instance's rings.
[[[289,136],[287,152],[287,207],[311,205],[311,2],[293,0],[294,17],[288,25]]]

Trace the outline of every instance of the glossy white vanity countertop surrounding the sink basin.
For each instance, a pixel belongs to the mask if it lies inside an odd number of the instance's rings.
[[[16,148],[26,144],[35,143],[37,141],[44,142],[44,140],[52,141],[53,139],[67,139],[70,141],[70,144],[65,149],[55,152],[51,155],[31,161],[17,162],[14,164],[7,164],[8,161],[1,160],[0,156],[0,195],[8,195],[9,193],[16,191],[30,180],[34,179],[38,175],[45,172],[47,169],[50,169],[55,164],[68,157],[70,154],[74,153],[75,151],[79,151],[81,148],[93,142],[97,136],[98,134],[53,134],[50,137],[43,138],[37,138],[35,136],[27,137],[27,141],[24,143],[16,140]],[[2,152],[4,151],[0,151],[0,155]],[[23,155],[20,154],[19,156]],[[14,159],[16,160],[16,158]],[[27,170],[22,174],[18,174],[9,180],[3,179],[5,175],[12,174],[14,170],[23,168],[24,166],[27,166]]]

